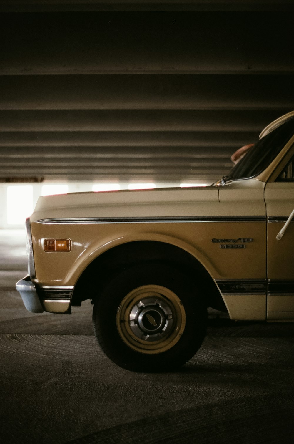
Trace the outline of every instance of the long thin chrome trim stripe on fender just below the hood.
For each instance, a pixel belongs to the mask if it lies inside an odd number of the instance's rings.
[[[162,216],[116,218],[56,218],[40,219],[42,224],[99,224],[99,223],[187,223],[187,222],[266,222],[266,216]]]

